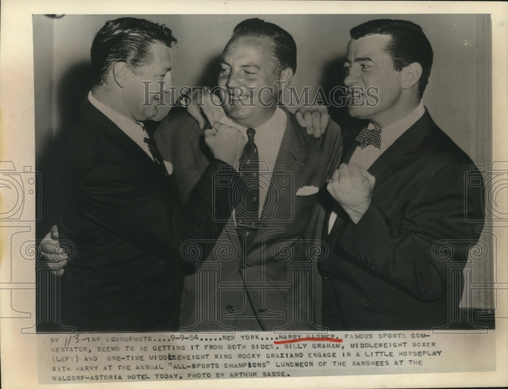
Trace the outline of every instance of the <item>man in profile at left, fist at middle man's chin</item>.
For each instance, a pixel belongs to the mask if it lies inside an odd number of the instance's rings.
[[[213,178],[221,166],[235,175],[245,144],[237,129],[207,130],[213,158],[181,205],[171,166],[142,125],[158,104],[142,82],[171,83],[175,42],[169,28],[136,18],[108,21],[93,40],[93,87],[57,174],[59,236],[76,246],[61,277],[60,322],[77,331],[177,330],[189,270],[180,247],[204,240],[208,252],[231,213],[230,186],[214,188]]]

